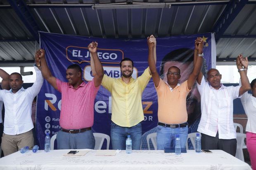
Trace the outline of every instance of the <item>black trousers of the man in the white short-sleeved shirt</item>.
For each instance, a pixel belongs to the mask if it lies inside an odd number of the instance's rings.
[[[216,137],[201,133],[201,148],[202,149],[220,149],[233,156],[237,151],[237,139],[219,139],[219,133]]]

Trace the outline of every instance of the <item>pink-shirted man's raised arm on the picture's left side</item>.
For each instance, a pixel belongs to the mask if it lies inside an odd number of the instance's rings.
[[[47,80],[48,83],[50,83],[57,90],[56,77],[52,76],[52,73],[51,73],[50,69],[48,68],[48,65],[47,65],[46,59],[45,59],[45,50],[39,49],[38,51],[36,51],[36,58],[37,59],[39,58],[39,60],[40,60],[41,72],[42,72],[43,77]]]

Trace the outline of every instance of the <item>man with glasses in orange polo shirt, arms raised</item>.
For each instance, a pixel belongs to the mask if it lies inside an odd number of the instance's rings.
[[[187,109],[186,98],[194,85],[201,68],[204,42],[201,37],[195,40],[195,46],[198,49],[197,62],[194,63],[193,71],[190,77],[179,84],[180,69],[171,66],[167,72],[167,83],[160,79],[156,70],[153,57],[153,43],[148,39],[149,46],[149,68],[152,73],[154,85],[158,96],[158,126],[157,126],[157,149],[175,146],[175,136],[180,135],[181,147],[185,148],[187,142]],[[195,59],[194,59],[195,61]]]

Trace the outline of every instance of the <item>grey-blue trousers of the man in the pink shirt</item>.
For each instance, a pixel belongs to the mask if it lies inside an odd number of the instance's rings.
[[[95,146],[92,130],[82,133],[66,133],[59,130],[56,139],[58,149],[94,149]]]

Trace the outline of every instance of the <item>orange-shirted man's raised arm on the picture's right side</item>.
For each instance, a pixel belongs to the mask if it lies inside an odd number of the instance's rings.
[[[198,37],[197,40],[195,41],[195,48],[198,48],[198,51],[195,51],[195,53],[196,52],[198,52],[198,54],[203,53],[204,41],[201,37]],[[198,56],[198,54],[197,54],[197,56],[195,56],[195,54],[194,54],[194,58],[196,58],[196,61],[194,61],[193,71],[192,71],[190,77],[187,79],[188,89],[192,88],[192,86],[194,85],[194,82],[197,80],[197,77],[201,70],[202,57]],[[201,77],[201,79],[202,79],[202,77]],[[201,83],[201,81],[200,81],[200,83]]]

